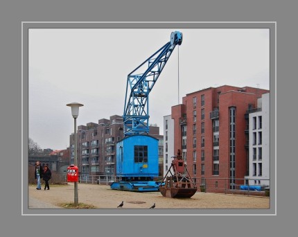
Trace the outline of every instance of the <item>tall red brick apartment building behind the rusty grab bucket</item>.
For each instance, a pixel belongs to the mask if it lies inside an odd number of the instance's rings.
[[[182,149],[197,184],[221,193],[243,184],[248,174],[247,109],[268,93],[254,87],[209,87],[186,94],[172,107],[174,151]]]

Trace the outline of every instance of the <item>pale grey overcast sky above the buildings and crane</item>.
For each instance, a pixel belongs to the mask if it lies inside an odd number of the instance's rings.
[[[270,89],[269,29],[31,28],[29,137],[42,149],[69,147],[73,118],[67,103],[84,105],[77,125],[122,116],[128,74],[175,30],[183,34],[182,45],[149,98],[149,122],[157,123],[160,134],[170,108],[193,91],[220,85]]]

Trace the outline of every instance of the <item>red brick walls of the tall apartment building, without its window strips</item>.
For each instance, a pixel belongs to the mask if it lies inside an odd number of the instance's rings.
[[[245,88],[245,89],[244,89]],[[181,125],[179,125],[179,118],[184,112],[186,112],[187,118],[187,153],[186,163],[189,173],[192,177],[218,177],[229,178],[229,154],[230,154],[230,141],[229,141],[229,107],[236,107],[236,179],[243,179],[247,170],[247,152],[245,150],[245,113],[248,109],[248,105],[252,104],[256,107],[257,98],[261,97],[261,94],[268,93],[268,90],[258,89],[253,87],[233,87],[225,85],[217,88],[208,88],[201,91],[195,91],[191,94],[187,94],[182,98],[183,105],[176,105],[172,107],[172,119],[174,122],[174,134],[175,145],[174,148],[181,148],[182,134]],[[242,91],[240,91],[242,89]],[[218,103],[218,91],[220,91],[219,103]],[[204,106],[201,107],[201,95],[204,94]],[[193,107],[193,97],[197,98],[197,105]],[[220,170],[219,175],[213,176],[213,130],[212,120],[210,119],[210,112],[214,107],[219,107],[219,156],[220,156]],[[201,119],[201,109],[204,108],[204,120]],[[193,135],[193,110],[197,111],[197,132]],[[201,134],[201,123],[204,122],[204,134]],[[196,136],[197,146],[193,148],[193,137]],[[205,139],[205,172],[201,175],[201,137]],[[193,150],[197,151],[197,161],[193,162]],[[197,165],[197,175],[193,175],[193,164]],[[243,181],[239,181],[239,184],[243,184]],[[214,185],[214,184],[212,184]],[[225,188],[225,182],[218,182],[218,189]]]

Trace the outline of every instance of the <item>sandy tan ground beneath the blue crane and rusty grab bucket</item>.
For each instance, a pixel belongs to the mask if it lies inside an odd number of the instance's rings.
[[[28,195],[53,205],[73,202],[73,184],[50,186],[50,190],[37,190],[28,186]],[[78,202],[92,204],[98,209],[116,209],[124,201],[123,209],[269,209],[270,198],[219,193],[201,193],[187,199],[165,198],[159,192],[136,193],[112,190],[98,184],[78,184]]]

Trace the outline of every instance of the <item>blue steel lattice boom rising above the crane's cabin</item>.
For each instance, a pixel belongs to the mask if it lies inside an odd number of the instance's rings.
[[[170,42],[128,74],[123,112],[124,136],[148,134],[149,94],[177,44],[182,44],[179,31],[172,32]]]

